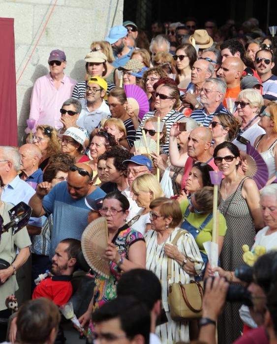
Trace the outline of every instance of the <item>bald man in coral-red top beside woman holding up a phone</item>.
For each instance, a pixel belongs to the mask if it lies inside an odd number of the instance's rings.
[[[212,166],[215,170],[214,157],[210,154],[211,142],[213,134],[210,129],[206,127],[199,127],[193,129],[187,139],[187,155],[188,158],[185,163],[185,173],[182,178],[182,189],[185,189],[186,178],[195,162],[206,163]]]

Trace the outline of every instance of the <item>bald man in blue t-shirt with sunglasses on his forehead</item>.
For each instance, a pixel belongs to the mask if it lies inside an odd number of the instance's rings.
[[[55,255],[55,248],[61,240],[81,240],[91,210],[86,205],[85,198],[96,200],[105,195],[104,191],[92,184],[92,169],[82,163],[71,165],[67,182],[58,183],[53,189],[48,182],[37,185],[29,204],[34,217],[53,214],[50,259]]]

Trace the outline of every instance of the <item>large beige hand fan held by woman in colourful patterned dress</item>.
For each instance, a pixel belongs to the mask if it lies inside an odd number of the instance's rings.
[[[90,223],[81,239],[82,251],[92,270],[105,278],[110,276],[110,261],[103,258],[108,243],[108,226],[104,217]]]

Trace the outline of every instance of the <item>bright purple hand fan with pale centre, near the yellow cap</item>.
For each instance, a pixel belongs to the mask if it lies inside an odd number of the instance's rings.
[[[145,91],[136,85],[124,85],[127,102],[140,119],[149,112],[149,102]]]

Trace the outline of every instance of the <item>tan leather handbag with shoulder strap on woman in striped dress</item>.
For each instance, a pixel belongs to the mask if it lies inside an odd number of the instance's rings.
[[[185,231],[187,232],[187,231]],[[176,245],[178,239],[184,234],[180,230],[172,241]],[[188,284],[171,283],[172,258],[168,258],[168,304],[173,320],[200,318],[202,316],[203,282],[190,281]]]

